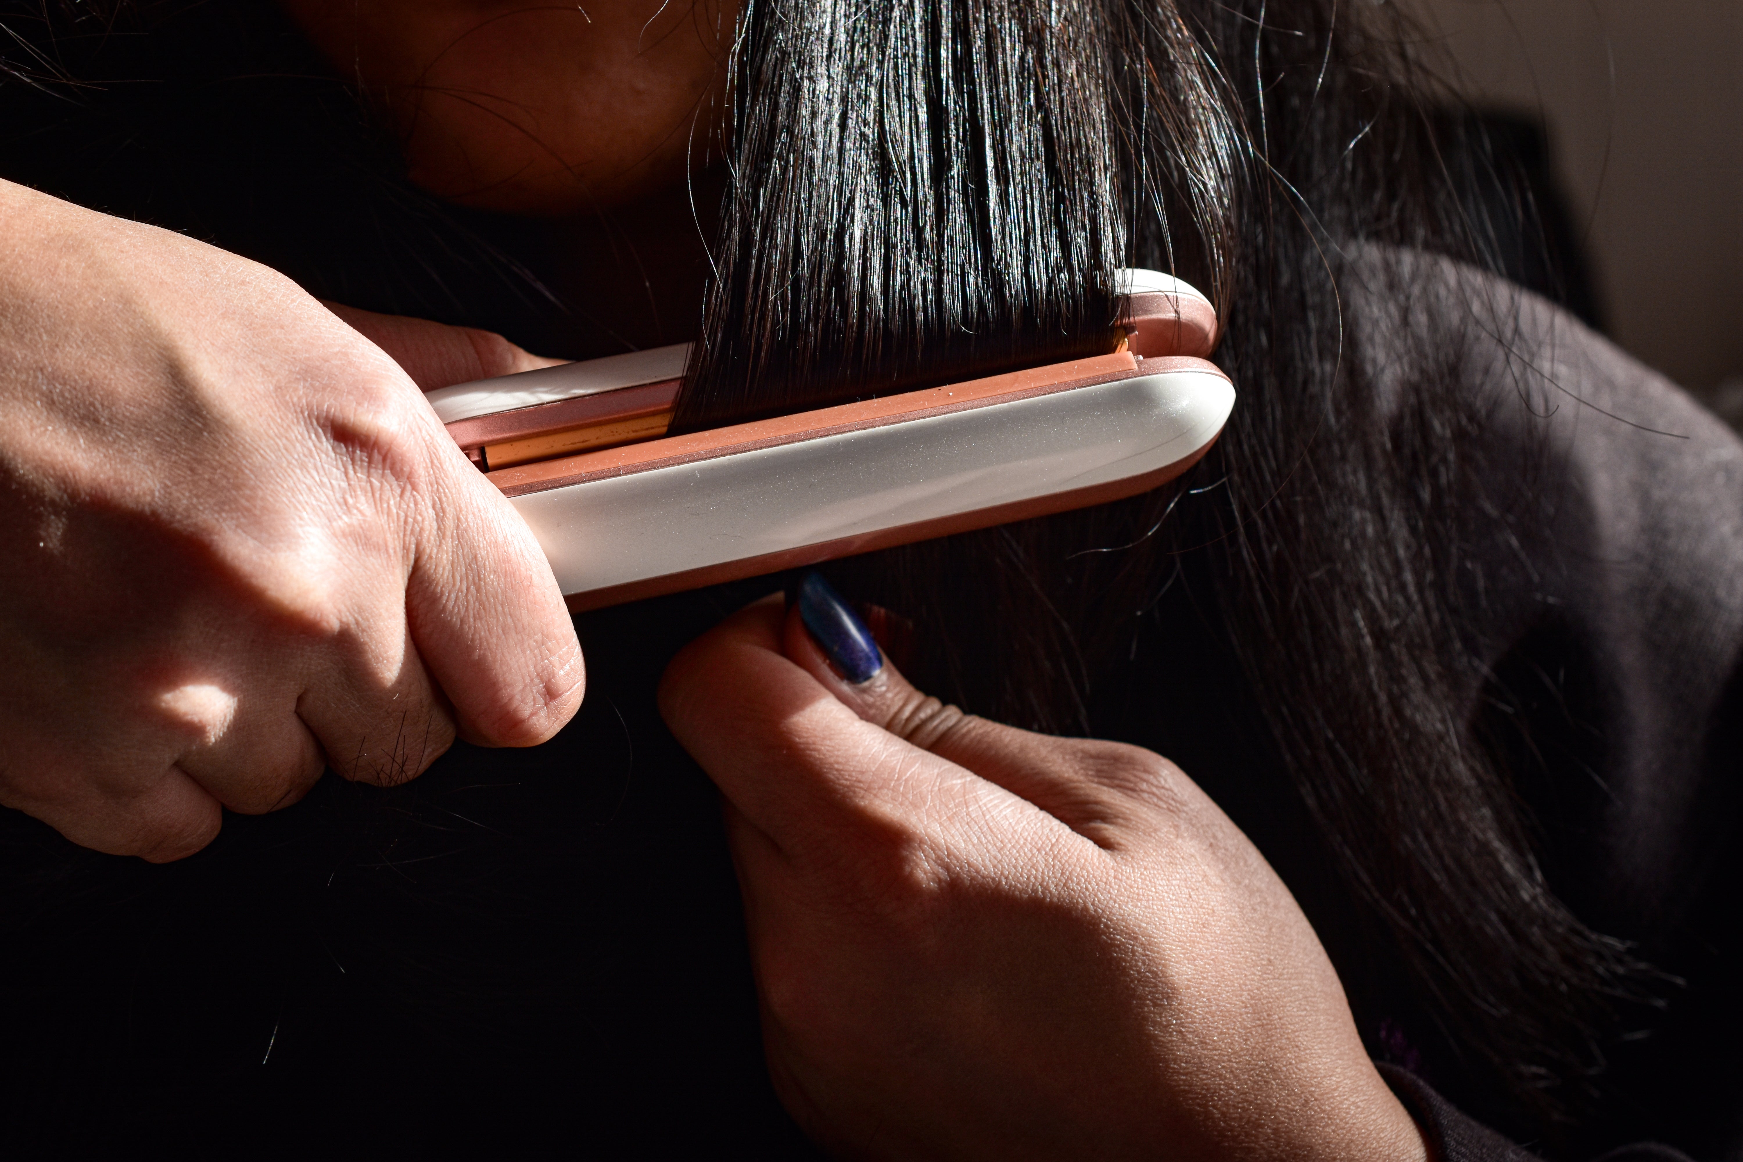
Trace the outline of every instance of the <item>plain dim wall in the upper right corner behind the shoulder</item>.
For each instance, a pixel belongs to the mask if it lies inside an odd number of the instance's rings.
[[[1548,131],[1611,334],[1743,422],[1743,3],[1403,3],[1473,103]]]

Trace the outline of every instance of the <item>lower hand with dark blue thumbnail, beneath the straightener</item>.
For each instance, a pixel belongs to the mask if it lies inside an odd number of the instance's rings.
[[[1306,916],[1190,779],[939,706],[819,582],[692,643],[661,688],[725,793],[769,1068],[816,1138],[1424,1157]]]

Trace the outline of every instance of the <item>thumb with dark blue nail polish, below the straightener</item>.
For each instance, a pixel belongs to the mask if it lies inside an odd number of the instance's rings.
[[[865,721],[999,784],[1067,826],[1082,815],[1091,789],[1086,744],[964,714],[915,690],[821,573],[809,571],[795,585],[781,646]]]

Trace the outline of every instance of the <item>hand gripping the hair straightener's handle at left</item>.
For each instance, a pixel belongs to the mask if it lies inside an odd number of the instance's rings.
[[[573,714],[539,545],[389,355],[181,235],[7,183],[0,223],[0,803],[166,861]]]

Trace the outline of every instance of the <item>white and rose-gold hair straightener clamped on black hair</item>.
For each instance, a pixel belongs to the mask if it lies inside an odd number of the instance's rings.
[[[1119,500],[1215,443],[1217,312],[1121,272],[1105,355],[666,436],[688,343],[429,392],[573,610]]]

